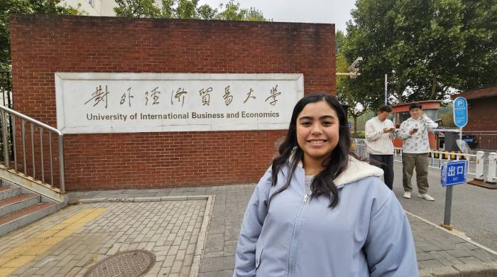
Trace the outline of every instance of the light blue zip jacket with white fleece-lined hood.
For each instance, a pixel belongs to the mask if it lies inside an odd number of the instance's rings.
[[[288,163],[271,186],[271,168],[246,208],[236,247],[234,277],[418,276],[413,234],[403,208],[378,179],[383,170],[354,158],[335,183],[339,204],[305,195],[297,166],[290,186]]]

